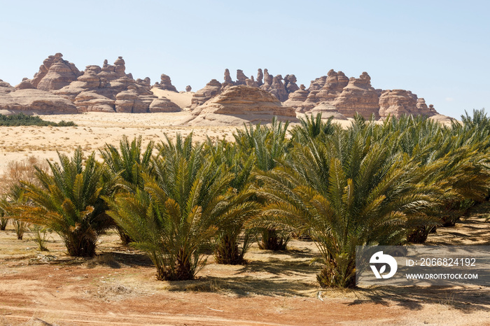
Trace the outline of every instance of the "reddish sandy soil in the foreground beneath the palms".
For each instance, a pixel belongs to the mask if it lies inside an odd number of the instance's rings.
[[[486,215],[438,229],[428,243],[488,245]],[[47,246],[37,251],[29,233],[15,239],[11,226],[0,231],[0,325],[490,325],[485,287],[318,288],[309,241],[283,253],[253,246],[244,266],[209,257],[186,282],[157,281],[146,256],[115,233],[91,260],[67,257],[55,234]]]

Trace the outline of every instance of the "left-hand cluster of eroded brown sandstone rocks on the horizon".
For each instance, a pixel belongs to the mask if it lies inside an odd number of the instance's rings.
[[[163,74],[159,87],[165,90],[176,92],[175,87],[169,76]],[[174,104],[169,104],[168,99],[156,101],[150,111],[155,97],[151,92],[151,80],[146,77],[134,80],[131,73],[125,72],[125,61],[123,57],[118,57],[114,64],[108,64],[104,60],[101,66],[89,65],[85,71],[80,72],[76,66],[64,59],[62,54],[51,55],[44,60],[38,73],[33,79],[25,78],[16,86],[17,90],[47,90],[50,93],[38,93],[36,96],[45,101],[56,102],[53,104],[57,109],[47,109],[45,106],[32,106],[33,110],[43,110],[45,113],[59,113],[70,111],[73,113],[73,105],[66,106],[64,99],[75,104],[78,112],[99,111],[99,112],[153,112],[153,111],[174,111]],[[122,94],[121,94],[122,93]],[[18,93],[18,96],[22,95]],[[46,99],[46,97],[48,97]],[[22,97],[23,98],[23,97]],[[117,102],[117,103],[116,103]],[[11,100],[8,106],[12,107]],[[27,103],[22,101],[22,103]],[[19,108],[19,106],[15,106]],[[23,108],[31,110],[31,108]],[[75,111],[76,112],[76,111]]]

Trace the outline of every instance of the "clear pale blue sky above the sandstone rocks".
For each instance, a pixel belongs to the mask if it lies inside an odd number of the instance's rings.
[[[62,52],[83,70],[122,55],[134,78],[199,90],[267,68],[298,84],[371,76],[442,114],[490,108],[490,1],[3,1],[0,78],[31,78]]]

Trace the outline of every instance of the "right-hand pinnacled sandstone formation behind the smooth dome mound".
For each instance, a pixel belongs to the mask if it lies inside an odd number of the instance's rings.
[[[246,78],[241,70],[237,70],[237,81],[230,77],[230,71],[225,69],[225,81],[220,84],[213,80],[202,90],[198,91],[193,97],[193,106],[200,106],[205,101],[222,94],[231,85],[247,85],[249,87],[259,87],[274,95],[286,106],[295,108],[297,112],[311,113],[325,111],[326,108],[336,108],[337,111],[328,111],[328,114],[338,114],[339,118],[352,118],[356,113],[360,113],[365,118],[370,118],[374,114],[375,118],[386,116],[390,113],[395,115],[405,114],[437,114],[430,111],[425,102],[419,101],[416,95],[405,90],[387,91],[375,90],[371,86],[370,76],[363,72],[359,78],[347,78],[342,71],[330,69],[327,76],[321,76],[311,80],[308,89],[302,85],[298,87],[295,75],[290,74],[282,78],[281,75],[272,77],[267,69],[258,69],[257,80]],[[262,83],[263,78],[263,83]],[[204,95],[206,93],[207,95]],[[381,97],[381,94],[384,94]],[[381,98],[381,99],[380,99]],[[414,102],[415,101],[415,102]],[[321,106],[320,106],[321,105]],[[314,110],[316,106],[320,106]],[[381,106],[381,112],[379,112]],[[333,109],[332,109],[333,110]],[[342,116],[341,116],[342,115]]]

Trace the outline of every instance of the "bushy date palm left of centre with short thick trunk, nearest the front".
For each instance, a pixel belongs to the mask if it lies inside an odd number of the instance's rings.
[[[158,149],[144,189],[116,195],[109,214],[148,253],[158,279],[193,279],[203,250],[220,222],[235,218],[241,198],[229,191],[233,174],[194,145],[192,134],[167,138]]]

